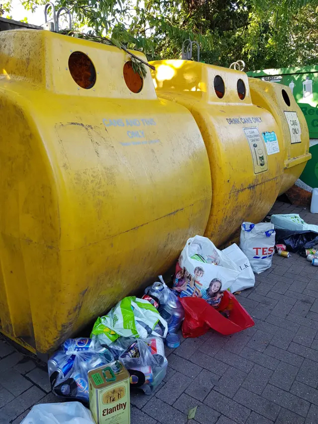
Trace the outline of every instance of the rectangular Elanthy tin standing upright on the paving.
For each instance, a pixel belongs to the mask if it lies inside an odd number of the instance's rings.
[[[130,424],[129,381],[120,361],[88,371],[89,409],[96,424]]]

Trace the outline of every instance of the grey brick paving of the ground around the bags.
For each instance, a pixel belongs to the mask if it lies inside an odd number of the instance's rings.
[[[318,215],[276,202],[271,213]],[[131,394],[132,424],[318,424],[318,267],[274,255],[255,287],[238,295],[255,326],[212,331],[166,349],[167,375],[151,396]],[[37,403],[60,402],[47,371],[0,340],[0,424],[18,424]]]

